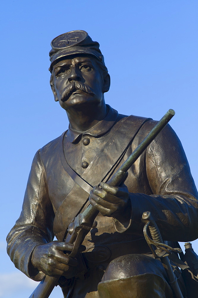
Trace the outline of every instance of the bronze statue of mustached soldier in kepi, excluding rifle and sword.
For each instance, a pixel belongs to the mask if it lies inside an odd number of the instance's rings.
[[[105,105],[110,76],[99,44],[85,31],[59,35],[51,46],[50,85],[69,128],[34,157],[20,218],[7,237],[8,254],[34,280],[61,275],[65,298],[174,297],[144,238],[142,213],[152,213],[172,247],[198,238],[198,193],[182,145],[167,125],[124,184],[108,185],[156,121]],[[64,252],[73,245],[63,240],[89,203],[99,214],[71,258]],[[182,277],[178,283],[185,297]]]

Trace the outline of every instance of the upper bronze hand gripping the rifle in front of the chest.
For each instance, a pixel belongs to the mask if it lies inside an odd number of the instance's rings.
[[[99,210],[103,216],[119,218],[123,214],[129,200],[128,188],[110,186],[104,182],[100,187],[94,186],[89,196],[89,202]]]

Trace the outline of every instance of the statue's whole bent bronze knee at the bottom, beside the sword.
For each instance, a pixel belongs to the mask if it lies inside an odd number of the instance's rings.
[[[173,298],[159,260],[129,254],[113,260],[98,284],[100,298]]]

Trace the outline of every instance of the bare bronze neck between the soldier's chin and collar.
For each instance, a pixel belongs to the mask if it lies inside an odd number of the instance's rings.
[[[66,111],[70,127],[78,132],[84,132],[99,123],[107,114],[104,100],[96,105],[79,105]]]

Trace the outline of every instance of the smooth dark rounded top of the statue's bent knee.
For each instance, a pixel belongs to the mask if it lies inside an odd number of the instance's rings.
[[[144,273],[164,275],[164,268],[160,261],[142,254],[127,254],[111,261],[102,278],[113,280],[126,278]]]

